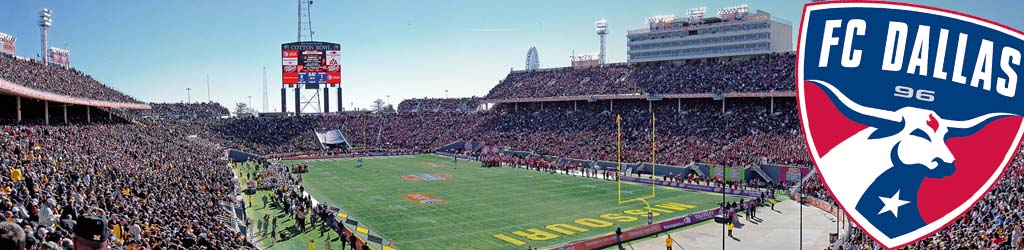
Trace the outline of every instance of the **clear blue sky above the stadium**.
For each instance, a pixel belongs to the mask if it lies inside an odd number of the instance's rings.
[[[682,16],[697,6],[714,14],[746,3],[797,24],[806,2],[315,0],[312,28],[316,40],[342,44],[349,109],[387,95],[395,105],[443,97],[445,89],[453,97],[482,96],[510,68],[523,68],[530,46],[542,68],[567,66],[573,50],[597,51],[594,20],[601,18],[608,20],[607,59],[615,62],[626,60],[626,31],[643,28],[648,16]],[[911,2],[1024,28],[1017,9],[1007,8],[1017,1]],[[259,109],[266,67],[268,106],[280,109],[280,46],[295,41],[295,1],[7,0],[0,3],[0,32],[17,37],[18,55],[38,53],[44,7],[53,10],[49,45],[70,48],[74,67],[129,95],[176,102],[190,87],[193,101],[206,100],[209,74],[213,100],[233,108],[251,95]]]

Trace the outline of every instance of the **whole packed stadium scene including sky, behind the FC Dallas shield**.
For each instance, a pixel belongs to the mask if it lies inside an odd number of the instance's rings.
[[[0,249],[880,249],[808,154],[807,2],[0,3]],[[1024,248],[1020,155],[902,248]]]

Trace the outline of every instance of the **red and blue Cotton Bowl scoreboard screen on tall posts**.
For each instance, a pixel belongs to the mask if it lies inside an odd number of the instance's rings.
[[[341,45],[294,42],[281,45],[282,83],[341,84]]]

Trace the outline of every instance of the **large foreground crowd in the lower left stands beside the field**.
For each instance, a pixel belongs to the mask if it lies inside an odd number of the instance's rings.
[[[251,247],[231,228],[222,155],[180,137],[134,124],[2,126],[0,212],[27,249],[71,243],[86,215],[105,218],[97,240],[114,249]]]

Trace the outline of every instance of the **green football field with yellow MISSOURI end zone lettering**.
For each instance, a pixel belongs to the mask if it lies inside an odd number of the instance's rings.
[[[285,162],[295,164],[301,161]],[[620,205],[617,182],[432,155],[305,161],[302,185],[362,226],[407,249],[526,249],[647,223],[641,202]],[[650,185],[622,184],[624,200]],[[655,221],[717,207],[715,194],[657,187]],[[730,202],[738,198],[730,197]]]

